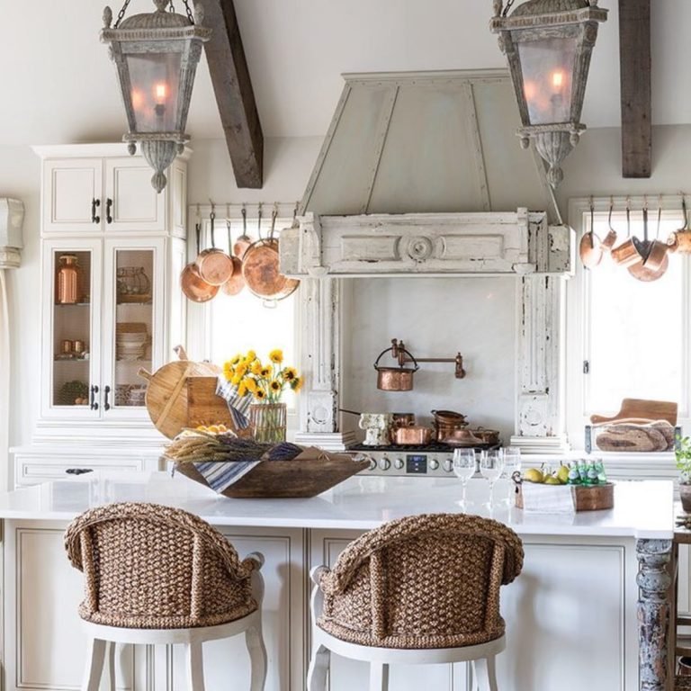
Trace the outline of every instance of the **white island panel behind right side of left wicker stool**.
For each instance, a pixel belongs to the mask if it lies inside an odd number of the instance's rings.
[[[300,529],[220,528],[244,559],[250,552],[265,557],[262,615],[268,660],[265,691],[301,691],[306,668],[305,563]],[[185,660],[179,646],[168,653],[166,675],[158,666],[157,691],[186,691]],[[204,643],[204,685],[207,689],[248,689],[250,663],[245,636]],[[161,682],[165,680],[165,685]]]

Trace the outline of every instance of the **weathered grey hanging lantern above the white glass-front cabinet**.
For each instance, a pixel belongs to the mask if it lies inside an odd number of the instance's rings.
[[[127,113],[129,132],[122,139],[129,143],[130,154],[139,142],[142,155],[156,171],[151,184],[161,192],[166,186],[164,171],[190,139],[184,128],[194,73],[211,29],[202,26],[202,6],[195,5],[193,15],[187,0],[186,16],[175,13],[172,2],[154,0],[155,12],[123,21],[129,4],[125,0],[113,25],[111,8],[103,10],[101,41],[110,44]]]

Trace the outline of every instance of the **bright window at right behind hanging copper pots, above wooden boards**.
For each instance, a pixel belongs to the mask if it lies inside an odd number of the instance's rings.
[[[657,200],[656,200],[657,201]],[[636,203],[638,202],[638,203]],[[666,202],[666,203],[665,203]],[[674,208],[675,202],[677,208]],[[596,238],[615,229],[618,247],[629,236],[644,237],[645,199],[625,201],[609,214],[609,200],[595,202],[592,229]],[[667,242],[684,225],[678,199],[649,210],[648,238]],[[665,208],[668,207],[668,208]],[[590,230],[588,200],[572,204],[577,240]],[[607,252],[599,265],[586,269],[577,258],[568,286],[567,413],[570,441],[579,445],[583,426],[593,413],[614,414],[624,398],[678,402],[688,415],[689,264],[687,256],[669,255],[665,273],[640,281]]]

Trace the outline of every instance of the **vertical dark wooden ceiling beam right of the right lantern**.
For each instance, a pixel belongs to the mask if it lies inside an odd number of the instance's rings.
[[[650,177],[651,0],[619,0],[622,175]]]

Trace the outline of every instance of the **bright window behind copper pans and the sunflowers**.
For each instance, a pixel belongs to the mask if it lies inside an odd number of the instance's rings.
[[[286,207],[286,208],[283,208]],[[286,213],[287,205],[281,206],[281,215],[272,220],[272,205],[264,205],[265,213],[259,215],[256,204],[247,205],[246,220],[243,221],[238,205],[220,206],[215,210],[213,223],[213,244],[229,251],[242,235],[251,241],[268,238],[274,226],[274,237],[280,238],[281,229],[292,224],[292,217]],[[292,209],[291,209],[292,211]],[[191,220],[196,210],[192,210]],[[202,218],[202,247],[211,247],[211,208],[200,211]],[[225,215],[224,215],[225,212]],[[197,310],[197,319],[191,319],[191,328],[203,324],[202,352],[212,363],[222,365],[235,354],[254,350],[262,362],[268,361],[268,354],[274,349],[283,351],[283,362],[300,367],[300,351],[297,328],[299,319],[298,298],[300,289],[280,300],[265,300],[253,294],[247,286],[237,295],[226,295],[219,291],[217,296]],[[203,312],[203,313],[202,313]],[[295,408],[295,394],[283,392],[283,400],[289,411]]]

